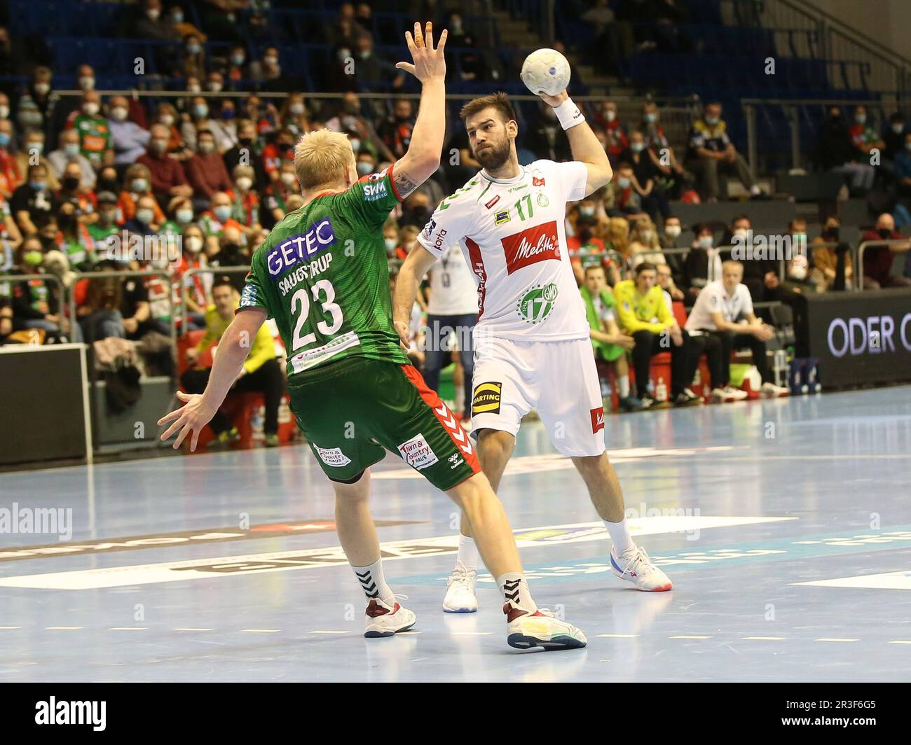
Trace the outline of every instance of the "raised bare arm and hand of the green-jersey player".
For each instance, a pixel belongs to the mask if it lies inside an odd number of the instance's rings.
[[[446,31],[440,35],[436,48],[434,25],[430,21],[425,26],[425,34],[421,33],[421,25],[415,23],[415,36],[406,31],[404,37],[415,61],[414,64],[399,62],[395,66],[421,81],[421,102],[408,152],[393,167],[395,193],[400,199],[411,194],[440,167],[446,128],[446,62],[443,56]]]

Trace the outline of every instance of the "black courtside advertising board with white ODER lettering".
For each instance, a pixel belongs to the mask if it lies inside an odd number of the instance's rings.
[[[911,290],[802,294],[796,356],[819,360],[824,388],[911,381]]]

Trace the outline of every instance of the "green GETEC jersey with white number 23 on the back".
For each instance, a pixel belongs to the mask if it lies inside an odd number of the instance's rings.
[[[275,319],[289,379],[344,357],[410,364],[393,326],[383,240],[399,201],[392,171],[295,209],[253,254],[238,310]]]

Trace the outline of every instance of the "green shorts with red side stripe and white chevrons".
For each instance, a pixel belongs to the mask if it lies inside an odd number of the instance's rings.
[[[333,481],[357,481],[386,450],[443,491],[481,470],[471,438],[411,365],[345,357],[294,375],[288,395]]]

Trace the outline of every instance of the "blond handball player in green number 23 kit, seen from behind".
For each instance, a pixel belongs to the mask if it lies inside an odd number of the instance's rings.
[[[358,179],[345,135],[304,135],[294,167],[304,204],[255,251],[234,320],[204,393],[178,393],[182,408],[164,416],[162,440],[201,429],[241,374],[250,340],[275,320],[288,353],[288,392],[297,424],[335,491],[339,541],[367,597],[365,637],[415,624],[383,576],[367,505],[370,466],[385,451],[402,457],[462,508],[477,548],[505,597],[507,642],[517,648],[586,645],[571,624],[538,610],[528,590],[502,505],[477,463],[474,445],[402,350],[392,320],[383,224],[389,212],[440,164],[445,133],[446,32],[405,33],[412,63],[396,66],[422,84],[411,145],[381,173]]]

